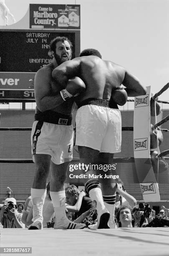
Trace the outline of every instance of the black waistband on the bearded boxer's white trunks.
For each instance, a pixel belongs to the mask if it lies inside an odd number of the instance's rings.
[[[63,115],[52,110],[35,113],[35,120],[59,125],[71,125],[72,115]]]

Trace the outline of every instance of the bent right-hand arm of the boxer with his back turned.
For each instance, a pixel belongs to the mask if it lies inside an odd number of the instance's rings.
[[[139,79],[137,79],[134,75],[125,71],[124,80],[122,84],[126,87],[126,92],[128,97],[136,97],[139,95],[146,94],[146,87],[144,87]]]

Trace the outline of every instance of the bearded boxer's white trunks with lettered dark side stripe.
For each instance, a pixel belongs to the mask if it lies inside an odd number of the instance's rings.
[[[32,154],[48,154],[54,164],[73,158],[73,125],[34,121],[31,133]]]

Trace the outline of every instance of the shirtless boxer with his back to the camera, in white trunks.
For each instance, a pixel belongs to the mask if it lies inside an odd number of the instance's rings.
[[[98,158],[112,164],[114,153],[121,151],[121,114],[117,104],[123,105],[127,95],[145,95],[146,88],[124,67],[102,60],[95,49],[86,49],[80,57],[61,64],[53,70],[52,76],[58,84],[65,86],[68,79],[77,76],[86,85],[86,90],[76,98],[76,145],[81,161],[96,163]],[[65,91],[68,97],[69,93]],[[106,174],[111,174],[111,170]],[[91,199],[96,201],[98,223],[95,228],[109,228],[109,212],[114,211],[116,201],[116,184],[111,179],[100,182],[102,187],[97,180],[88,180],[85,186]]]

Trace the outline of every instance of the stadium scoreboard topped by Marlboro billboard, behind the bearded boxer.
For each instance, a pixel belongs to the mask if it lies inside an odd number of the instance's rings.
[[[54,26],[47,24],[51,15]],[[52,62],[50,41],[57,36],[72,42],[72,59],[79,55],[79,5],[30,4],[18,23],[0,26],[0,102],[35,102],[35,73]]]

